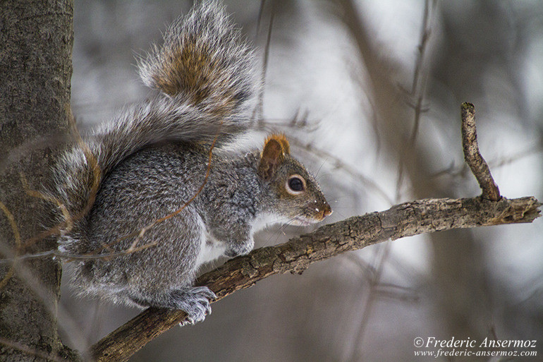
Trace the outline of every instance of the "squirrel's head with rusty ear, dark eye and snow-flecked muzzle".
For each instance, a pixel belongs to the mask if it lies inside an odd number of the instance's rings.
[[[313,224],[332,213],[315,178],[291,156],[285,135],[270,135],[266,139],[258,175],[276,196],[274,211],[288,217],[289,224]]]

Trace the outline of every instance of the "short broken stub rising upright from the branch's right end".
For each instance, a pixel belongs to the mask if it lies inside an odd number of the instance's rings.
[[[462,104],[462,147],[465,163],[468,164],[482,188],[482,197],[497,201],[501,198],[498,186],[492,179],[487,162],[484,161],[477,143],[477,128],[475,128],[475,107],[473,104]]]

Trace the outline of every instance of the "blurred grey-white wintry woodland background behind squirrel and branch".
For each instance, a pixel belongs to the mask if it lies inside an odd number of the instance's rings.
[[[479,195],[463,163],[465,101],[475,104],[501,194],[543,199],[542,1],[224,3],[265,69],[260,121],[242,148],[286,133],[334,209],[327,222],[415,198]],[[135,57],[190,4],[75,0],[80,127],[149,94]],[[269,229],[257,246],[311,230]],[[539,357],[529,360],[542,361],[542,235],[539,220],[346,253],[214,303],[205,322],[172,328],[131,361],[421,361],[415,337],[536,339]],[[70,322],[60,327],[75,348],[139,313],[73,298],[67,282],[61,313]]]

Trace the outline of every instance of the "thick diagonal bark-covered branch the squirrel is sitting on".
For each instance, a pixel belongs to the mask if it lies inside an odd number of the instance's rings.
[[[310,234],[278,246],[252,251],[228,260],[197,279],[217,295],[217,301],[273,274],[301,274],[319,260],[374,243],[434,231],[532,222],[542,205],[533,197],[494,202],[484,198],[426,199],[403,203],[383,212],[324,225]],[[186,322],[182,310],[149,308],[92,346],[97,361],[126,361],[147,342],[177,323]]]

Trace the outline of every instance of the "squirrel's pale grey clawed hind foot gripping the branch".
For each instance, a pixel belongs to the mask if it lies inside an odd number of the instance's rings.
[[[171,303],[176,309],[187,313],[187,321],[192,325],[204,320],[207,314],[211,314],[209,299],[216,298],[216,295],[207,286],[176,289],[171,291],[170,296]],[[183,325],[183,323],[180,324]]]

